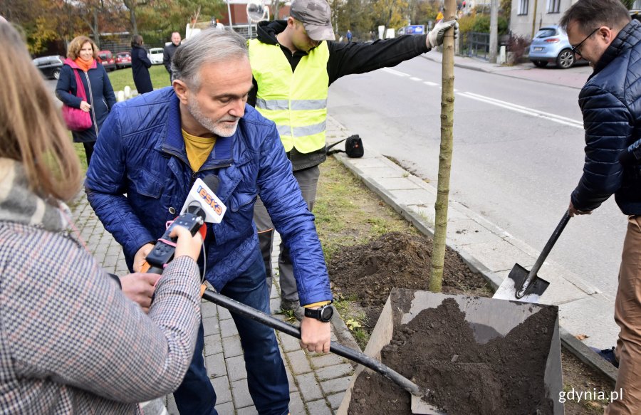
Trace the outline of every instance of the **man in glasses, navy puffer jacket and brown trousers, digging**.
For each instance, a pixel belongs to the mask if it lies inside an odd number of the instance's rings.
[[[570,196],[570,214],[589,214],[613,194],[628,216],[615,320],[619,364],[605,414],[641,414],[641,164],[625,162],[641,137],[641,24],[630,21],[620,0],[579,0],[561,20],[574,51],[594,72],[580,92],[585,127],[585,166]]]

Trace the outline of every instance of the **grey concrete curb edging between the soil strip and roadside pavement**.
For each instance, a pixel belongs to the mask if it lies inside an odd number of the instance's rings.
[[[345,154],[338,153],[334,154],[333,156],[338,160],[338,162],[343,164],[343,166],[347,167],[350,172],[353,172],[353,174],[355,174],[363,182],[363,184],[368,187],[368,189],[375,192],[375,194],[380,196],[380,198],[383,199],[383,201],[385,201],[385,203],[387,203],[390,207],[392,207],[392,209],[397,211],[407,221],[410,221],[410,223],[412,223],[421,233],[429,237],[434,236],[434,228],[431,227],[432,224],[429,224],[429,222],[422,218],[422,216],[416,214],[405,204],[398,203],[395,197],[390,194],[387,189],[380,187],[374,179],[368,177],[368,175],[365,174],[361,169],[351,163],[350,159],[348,159]],[[473,256],[470,256],[468,253],[465,253],[464,251],[459,249],[457,245],[447,243],[447,246],[457,252],[459,256],[461,256],[463,261],[467,263],[469,268],[471,268],[471,270],[480,273],[483,278],[488,281],[492,288],[496,289],[499,287],[499,285],[501,285],[501,278],[494,272],[489,270],[489,268],[484,266],[481,261],[474,258]],[[345,327],[345,329],[346,328],[347,327]],[[598,354],[593,352],[593,350],[590,350],[590,347],[584,345],[582,342],[580,342],[580,340],[576,339],[573,335],[570,334],[570,332],[568,332],[568,330],[564,329],[561,325],[559,325],[559,334],[561,336],[561,345],[565,347],[566,350],[568,350],[572,354],[575,354],[578,359],[580,359],[582,362],[585,362],[598,372],[602,373],[603,375],[605,375],[605,377],[608,377],[608,379],[610,379],[610,382],[615,384],[618,372],[615,367],[599,357]]]

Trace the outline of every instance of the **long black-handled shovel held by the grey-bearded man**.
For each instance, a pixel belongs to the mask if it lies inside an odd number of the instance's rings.
[[[236,313],[237,315],[241,315],[251,320],[260,322],[261,324],[269,326],[292,337],[296,337],[297,339],[301,338],[301,329],[299,329],[298,327],[278,320],[277,318],[272,317],[269,314],[266,314],[260,310],[256,310],[255,308],[251,308],[249,307],[249,305],[239,303],[238,301],[232,300],[231,298],[226,297],[220,293],[216,293],[215,291],[207,289],[203,290],[203,288],[204,285],[202,285],[201,287],[202,298],[204,300],[220,305],[221,307],[224,307],[227,310]],[[421,389],[410,379],[403,377],[394,369],[385,366],[385,364],[382,364],[376,359],[369,357],[367,354],[363,354],[361,352],[358,352],[357,350],[350,349],[349,347],[339,345],[335,342],[331,342],[330,352],[338,354],[341,357],[345,357],[346,359],[350,359],[353,362],[360,363],[365,367],[369,367],[375,372],[378,372],[384,377],[387,377],[387,379],[390,379],[392,382],[402,387],[407,392],[410,392],[410,394],[412,394],[412,414],[446,415],[444,412],[439,411],[437,407],[428,404],[422,399],[423,396],[429,394],[429,390]]]

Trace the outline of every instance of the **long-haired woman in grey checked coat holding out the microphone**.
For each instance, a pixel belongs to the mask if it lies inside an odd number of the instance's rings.
[[[9,23],[0,47],[0,413],[142,414],[192,359],[202,239],[175,231],[162,277],[105,273],[69,230],[83,174],[60,110]]]

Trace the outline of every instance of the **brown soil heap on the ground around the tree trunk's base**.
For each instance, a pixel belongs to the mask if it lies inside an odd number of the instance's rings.
[[[365,245],[338,250],[328,264],[335,296],[358,298],[373,330],[392,288],[428,290],[432,267],[432,240],[424,236],[390,232]],[[469,269],[449,247],[445,251],[442,292],[491,297],[487,281]]]

